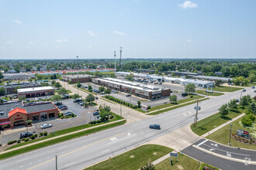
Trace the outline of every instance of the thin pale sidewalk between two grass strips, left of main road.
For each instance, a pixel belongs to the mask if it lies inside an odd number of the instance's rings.
[[[122,119],[122,120],[119,120],[119,121],[124,121],[124,120],[125,119]],[[68,133],[68,134],[62,134],[62,135],[56,136],[54,138],[47,138],[47,139],[42,140],[42,141],[36,141],[36,142],[28,144],[28,145],[23,145],[23,146],[20,146],[20,147],[17,147],[17,148],[12,148],[12,149],[7,150],[7,151],[2,151],[2,152],[0,152],[0,154],[5,154],[7,152],[15,151],[15,150],[20,149],[20,148],[26,148],[26,147],[31,146],[31,145],[40,144],[40,143],[43,143],[45,141],[51,141],[51,140],[54,140],[54,139],[57,139],[57,138],[61,138],[61,137],[64,137],[64,136],[67,136],[67,135],[70,135],[70,134],[76,134],[76,133],[81,132],[81,131],[87,131],[87,130],[92,129],[92,128],[98,128],[98,127],[105,126],[107,124],[113,124],[113,123],[116,123],[116,122],[119,122],[119,121],[112,121],[112,122],[109,122],[109,123],[106,123],[106,124],[100,124],[98,126],[94,126],[94,127],[91,127],[91,128],[85,128],[85,129],[81,129],[79,131],[73,131],[73,132]]]

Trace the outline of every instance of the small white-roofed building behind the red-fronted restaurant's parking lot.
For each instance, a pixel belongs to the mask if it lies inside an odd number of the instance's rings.
[[[19,98],[29,98],[29,97],[43,97],[54,94],[54,87],[33,87],[26,89],[18,89]]]

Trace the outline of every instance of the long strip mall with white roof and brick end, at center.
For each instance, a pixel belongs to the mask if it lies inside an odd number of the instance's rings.
[[[170,96],[171,90],[165,87],[155,87],[151,85],[144,85],[141,83],[133,83],[126,80],[119,80],[113,78],[96,78],[92,79],[92,83],[100,86],[108,87],[113,90],[119,90],[125,93],[133,94],[137,97],[143,97],[148,100],[153,100],[161,97]]]

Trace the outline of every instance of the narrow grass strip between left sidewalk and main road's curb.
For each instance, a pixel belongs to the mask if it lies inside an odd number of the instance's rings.
[[[109,129],[109,128],[114,128],[114,127],[123,125],[125,123],[126,123],[126,120],[119,121],[119,122],[112,123],[112,124],[106,124],[105,126],[92,128],[92,129],[88,129],[88,130],[85,129],[85,131],[81,131],[81,132],[74,133],[74,134],[69,134],[69,135],[61,137],[61,138],[55,138],[53,140],[45,141],[45,142],[42,142],[40,144],[31,145],[31,146],[28,146],[26,148],[19,148],[15,151],[9,151],[5,154],[0,155],[0,160],[2,160],[4,158],[9,158],[9,157],[12,157],[12,156],[15,156],[15,155],[23,154],[23,153],[26,153],[28,151],[33,151],[33,150],[36,150],[36,149],[39,149],[39,148],[47,147],[49,145],[55,145],[55,144],[63,142],[63,141],[68,141],[68,140],[71,140],[71,139],[74,139],[74,138],[79,138],[79,137],[82,137],[82,136],[85,136],[85,135],[88,135],[88,134],[94,134],[98,131],[103,131],[103,130],[106,130],[106,129]]]

